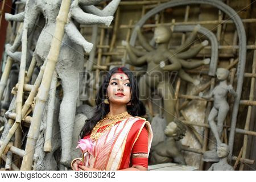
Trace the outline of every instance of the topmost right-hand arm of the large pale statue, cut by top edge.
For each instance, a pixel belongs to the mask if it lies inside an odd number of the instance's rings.
[[[82,10],[86,11],[87,13],[92,13],[94,15],[98,16],[113,16],[115,11],[117,10],[117,7],[121,0],[113,0],[111,1],[103,10],[98,9],[97,7],[91,5],[85,5],[83,3],[84,0],[79,0],[81,3]],[[102,1],[102,0],[101,0]],[[98,2],[98,1],[96,1]],[[94,5],[97,3],[94,2]]]

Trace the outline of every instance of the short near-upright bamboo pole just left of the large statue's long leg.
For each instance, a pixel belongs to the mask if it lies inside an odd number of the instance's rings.
[[[53,73],[51,89],[49,91],[48,109],[47,109],[47,122],[46,122],[46,134],[44,136],[44,152],[52,151],[52,125],[55,108],[55,93],[57,85],[57,73]]]

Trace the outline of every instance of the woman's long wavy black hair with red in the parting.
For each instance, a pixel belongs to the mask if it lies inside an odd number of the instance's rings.
[[[109,104],[105,104],[105,95],[107,93],[107,88],[109,85],[110,77],[114,73],[123,72],[125,73],[130,80],[130,89],[131,89],[131,105],[127,105],[127,112],[130,115],[137,116],[144,114],[143,104],[139,101],[139,89],[135,76],[130,71],[130,69],[125,67],[115,67],[107,72],[104,81],[102,82],[100,88],[98,89],[98,93],[96,96],[96,108],[93,114],[93,117],[90,119],[86,119],[84,127],[80,132],[80,137],[84,138],[85,135],[88,135],[90,131],[93,130],[93,127],[97,124],[98,121],[103,119],[106,114],[109,113]],[[140,107],[142,108],[140,110]]]

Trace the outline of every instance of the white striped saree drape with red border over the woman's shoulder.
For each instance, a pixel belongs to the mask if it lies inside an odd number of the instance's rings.
[[[135,122],[139,125],[134,125]],[[101,170],[129,168],[131,150],[144,126],[148,132],[148,156],[153,137],[150,123],[144,118],[130,117],[102,133],[101,137],[96,140],[93,156],[89,153],[85,156],[86,167]],[[128,138],[131,127],[136,127],[136,132]]]

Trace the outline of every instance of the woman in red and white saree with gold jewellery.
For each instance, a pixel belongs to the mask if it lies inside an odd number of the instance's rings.
[[[87,119],[80,137],[89,141],[84,162],[74,159],[73,170],[147,170],[152,130],[138,117],[139,90],[131,71],[113,68],[96,97],[96,111]],[[89,146],[90,145],[90,146]]]

